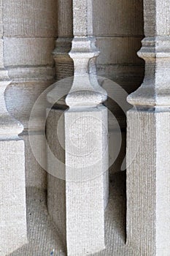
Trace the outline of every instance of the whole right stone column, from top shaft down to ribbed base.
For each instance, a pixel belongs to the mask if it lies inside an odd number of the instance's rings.
[[[127,243],[170,251],[170,1],[144,0],[142,86],[128,97]]]

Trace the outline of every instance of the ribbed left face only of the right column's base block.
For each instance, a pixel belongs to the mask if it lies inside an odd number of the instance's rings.
[[[141,255],[155,255],[155,114],[128,113],[127,238]]]

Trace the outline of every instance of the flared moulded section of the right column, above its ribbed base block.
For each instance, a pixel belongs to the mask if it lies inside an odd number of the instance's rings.
[[[170,37],[151,37],[142,41],[139,56],[146,61],[144,82],[128,102],[141,108],[169,108]]]

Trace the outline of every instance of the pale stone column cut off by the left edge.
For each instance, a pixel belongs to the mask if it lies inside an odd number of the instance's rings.
[[[3,8],[0,20],[0,255],[26,244],[26,188],[23,125],[9,115],[4,91],[10,83],[4,68]]]

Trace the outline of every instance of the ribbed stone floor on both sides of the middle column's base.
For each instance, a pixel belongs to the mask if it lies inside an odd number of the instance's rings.
[[[109,205],[105,212],[106,249],[93,256],[141,256],[125,244],[125,173],[111,177]],[[66,256],[61,234],[50,222],[46,208],[46,192],[27,189],[28,241],[26,246],[11,256],[58,255]]]

